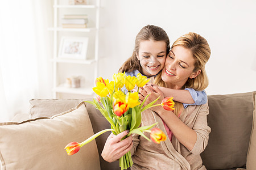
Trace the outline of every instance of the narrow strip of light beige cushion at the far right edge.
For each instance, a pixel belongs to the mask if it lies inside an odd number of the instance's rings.
[[[246,169],[256,169],[256,92],[253,93],[253,129],[251,131],[250,145],[247,154]]]

